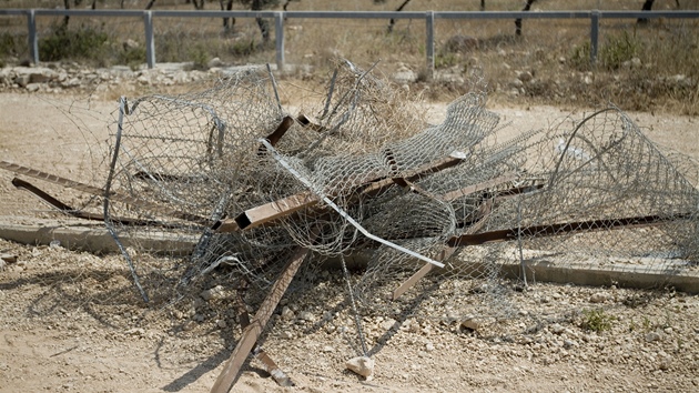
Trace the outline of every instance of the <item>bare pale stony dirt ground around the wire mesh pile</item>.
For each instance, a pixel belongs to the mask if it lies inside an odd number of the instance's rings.
[[[67,95],[0,94],[0,159],[91,181],[102,153],[85,154],[85,144],[107,140],[104,122],[116,103],[95,98],[89,111],[79,107]],[[574,113],[492,109],[514,132]],[[443,111],[435,105],[434,118]],[[699,158],[698,119],[630,114],[652,140]],[[75,133],[75,118],[93,134]],[[31,209],[18,202],[23,196],[11,177],[0,171],[4,219]],[[206,392],[240,335],[225,296],[144,304],[119,255],[2,239],[0,252],[17,256],[0,271],[0,392]],[[273,318],[264,347],[295,387],[277,386],[253,360],[234,391],[699,391],[699,299],[671,289],[536,283],[513,294],[515,318],[475,332],[411,315],[365,315],[376,362],[372,381],[345,370],[356,352],[340,333],[352,326],[343,296],[338,273],[318,273],[312,286],[283,301],[291,312]],[[586,325],[590,310],[608,330]]]

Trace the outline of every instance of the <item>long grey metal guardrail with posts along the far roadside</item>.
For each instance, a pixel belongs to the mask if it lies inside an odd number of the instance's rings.
[[[691,19],[699,18],[699,11],[168,11],[168,10],[57,10],[57,9],[0,9],[0,16],[26,16],[29,29],[31,59],[39,63],[39,38],[37,17],[141,17],[145,30],[148,67],[155,67],[155,41],[153,18],[270,18],[274,19],[276,66],[284,69],[284,21],[286,19],[424,19],[426,27],[427,70],[435,69],[435,19],[589,19],[590,61],[597,60],[600,19]]]

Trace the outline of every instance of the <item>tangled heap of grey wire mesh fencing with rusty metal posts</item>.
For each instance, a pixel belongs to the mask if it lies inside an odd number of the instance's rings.
[[[497,295],[505,264],[699,261],[693,162],[616,108],[504,140],[485,90],[475,79],[440,124],[347,61],[307,113],[283,108],[264,68],[203,92],[122,99],[105,222],[136,279],[131,250],[168,240],[185,266],[180,289],[216,270],[264,292],[295,250],[345,270],[363,255],[350,290],[373,310],[419,293],[427,273]],[[469,293],[456,285],[448,306]]]

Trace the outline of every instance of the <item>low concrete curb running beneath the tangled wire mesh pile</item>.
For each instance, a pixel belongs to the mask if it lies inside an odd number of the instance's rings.
[[[104,228],[0,223],[0,238],[33,245],[47,245],[58,240],[62,246],[70,250],[89,251],[98,254],[119,252],[116,243]],[[124,246],[138,244],[139,248],[154,252],[160,250],[181,254],[191,252],[194,245],[193,241],[188,242],[172,235],[168,239],[166,233],[152,238],[120,238],[120,240]],[[353,264],[361,265],[362,259],[362,256],[355,258]],[[328,266],[332,265],[331,261]],[[644,290],[673,286],[681,292],[699,293],[699,272],[624,264],[608,264],[602,268],[590,268],[584,264],[560,266],[549,261],[528,261],[526,268],[529,282],[573,283],[589,286],[616,284]],[[509,279],[521,278],[521,270],[518,264],[504,264],[502,272],[504,276]]]

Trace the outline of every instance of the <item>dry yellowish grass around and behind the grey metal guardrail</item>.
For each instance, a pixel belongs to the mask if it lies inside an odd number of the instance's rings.
[[[174,6],[174,4],[179,6]],[[191,6],[163,1],[161,8],[190,9]],[[394,10],[401,1],[374,4],[371,1],[303,0],[291,10]],[[550,9],[631,9],[640,1],[566,0]],[[36,7],[40,1],[8,1],[3,7]],[[104,6],[105,2],[101,4]],[[138,1],[128,7],[142,8]],[[685,4],[685,7],[695,7]],[[210,3],[209,9],[217,4]],[[477,10],[478,2],[464,4],[456,0],[434,0],[411,3],[406,10]],[[517,10],[517,1],[488,1],[488,10]],[[658,2],[656,8],[671,9],[672,2]],[[39,18],[41,37],[52,34],[59,18]],[[0,34],[0,50],[4,57],[27,57],[21,37],[26,30],[23,18],[0,20],[6,32]],[[144,60],[144,51],[123,46],[128,39],[143,42],[143,27],[139,18],[107,20],[73,18],[73,29],[91,28],[107,31],[110,40],[98,59],[79,59],[95,66],[126,63],[136,66]],[[406,66],[421,78],[413,91],[427,91],[437,100],[463,93],[466,84],[427,80],[425,61],[425,22],[398,20],[393,33],[386,32],[386,20],[287,20],[285,31],[286,62],[312,66],[312,74],[298,73],[304,80],[325,80],[337,57],[367,67],[381,60],[379,69],[388,74]],[[226,63],[274,62],[274,43],[264,43],[252,19],[239,19],[233,31],[223,33],[217,19],[155,19],[155,52],[159,62],[192,61],[205,67],[215,57]],[[699,113],[699,21],[651,20],[638,26],[635,20],[602,20],[599,61],[590,66],[588,20],[525,20],[524,36],[514,34],[510,20],[436,21],[436,64],[438,73],[458,77],[475,67],[483,69],[495,100],[573,105],[595,105],[611,101],[626,110],[670,111],[682,114]],[[23,32],[26,34],[26,31]],[[16,36],[12,36],[16,34]],[[445,42],[455,34],[474,37],[478,48],[454,52],[445,50]],[[8,37],[13,37],[9,39]],[[104,53],[110,53],[108,57]],[[520,85],[517,74],[527,71],[531,81]]]

